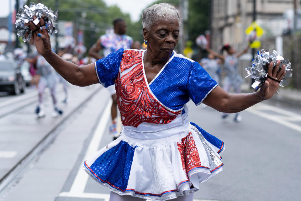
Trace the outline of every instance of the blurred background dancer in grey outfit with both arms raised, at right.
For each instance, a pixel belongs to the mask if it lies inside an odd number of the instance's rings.
[[[213,56],[216,56],[220,58],[224,63],[224,71],[226,73],[226,76],[224,78],[223,82],[223,89],[226,92],[230,91],[230,88],[233,87],[234,93],[240,93],[240,86],[242,84],[242,77],[240,76],[239,69],[238,69],[238,58],[245,54],[249,49],[249,46],[246,47],[245,50],[243,50],[240,53],[236,53],[236,50],[230,46],[230,45],[224,45],[221,53],[224,52],[224,50],[227,51],[227,56],[224,56],[222,54],[218,54],[214,52],[213,50],[207,48],[206,50],[211,53]],[[224,113],[222,115],[222,118],[225,119],[229,116],[228,113]],[[241,122],[242,117],[239,113],[235,114],[235,117],[233,119],[235,122]]]

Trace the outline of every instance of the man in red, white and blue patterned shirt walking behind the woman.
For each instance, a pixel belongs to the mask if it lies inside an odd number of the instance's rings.
[[[90,50],[89,55],[94,57],[95,59],[101,59],[103,57],[108,56],[108,54],[123,49],[130,49],[133,44],[133,39],[125,35],[127,31],[126,22],[122,18],[117,18],[113,21],[114,25],[114,33],[108,33],[100,36],[97,40],[96,44],[94,44]],[[141,48],[140,48],[141,49]],[[103,56],[99,55],[98,52],[103,50]],[[111,117],[112,117],[112,125],[110,126],[110,132],[113,134],[113,140],[117,139],[117,101],[116,101],[116,91],[115,86],[109,86],[108,90],[110,91],[112,97],[112,107],[111,107]]]

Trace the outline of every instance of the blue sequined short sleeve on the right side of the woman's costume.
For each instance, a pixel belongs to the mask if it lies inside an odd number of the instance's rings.
[[[207,95],[217,86],[217,82],[212,79],[198,62],[193,62],[188,75],[188,94],[193,103],[199,105]]]

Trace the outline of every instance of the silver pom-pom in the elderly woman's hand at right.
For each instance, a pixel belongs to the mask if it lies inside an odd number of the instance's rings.
[[[246,71],[248,73],[248,76],[246,77],[250,76],[251,78],[255,79],[255,82],[252,84],[251,87],[255,89],[261,87],[267,79],[267,70],[269,64],[273,61],[274,66],[276,66],[278,60],[281,61],[278,71],[280,71],[282,65],[285,65],[285,77],[292,77],[293,73],[290,61],[285,60],[281,55],[279,55],[279,53],[276,50],[273,50],[271,54],[269,50],[261,50],[260,52],[257,51],[257,56],[252,61],[252,66],[246,68]],[[281,87],[284,87],[288,85],[288,81],[285,78],[283,78],[279,85]]]

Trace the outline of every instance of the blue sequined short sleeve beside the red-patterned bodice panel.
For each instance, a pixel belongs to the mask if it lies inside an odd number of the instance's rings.
[[[109,54],[107,57],[95,62],[96,75],[98,81],[104,87],[114,85],[118,76],[119,66],[124,49]]]

